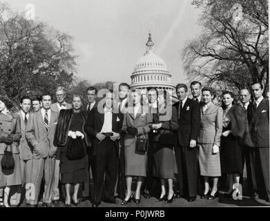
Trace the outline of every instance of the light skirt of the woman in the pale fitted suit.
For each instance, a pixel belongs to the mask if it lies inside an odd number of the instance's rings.
[[[207,177],[220,177],[220,153],[212,153],[213,144],[200,144],[200,174]]]

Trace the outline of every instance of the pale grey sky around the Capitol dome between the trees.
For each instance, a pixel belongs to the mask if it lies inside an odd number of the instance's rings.
[[[2,1],[2,0],[1,0]],[[165,61],[173,84],[186,82],[182,64],[185,44],[200,34],[200,10],[191,0],[8,0],[74,38],[77,76],[95,84],[126,81],[146,51],[151,30],[155,52]]]

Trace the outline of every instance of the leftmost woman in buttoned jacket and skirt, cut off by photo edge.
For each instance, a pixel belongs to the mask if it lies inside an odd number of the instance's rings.
[[[5,150],[12,151],[12,156],[15,160],[15,168],[12,171],[5,171],[0,166],[0,193],[3,195],[3,205],[5,207],[17,206],[19,204],[21,197],[19,185],[22,183],[19,160],[21,128],[19,116],[10,113],[8,111],[10,108],[12,108],[10,99],[0,96],[0,162]],[[10,189],[12,189],[12,195],[10,195]],[[8,202],[9,195],[10,204]]]

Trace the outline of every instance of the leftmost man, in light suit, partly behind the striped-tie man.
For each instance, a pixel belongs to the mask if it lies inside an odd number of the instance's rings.
[[[30,116],[31,98],[28,96],[21,97],[20,107],[21,111],[16,113],[19,115],[21,122],[21,140],[19,143],[19,157],[21,163],[21,177],[23,179],[22,185],[28,189],[30,184],[30,177],[32,173],[32,146],[26,140],[26,124]],[[30,204],[28,198],[26,198],[26,204]]]

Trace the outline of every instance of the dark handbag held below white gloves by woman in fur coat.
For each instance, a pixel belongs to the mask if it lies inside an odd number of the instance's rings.
[[[81,137],[73,139],[69,137],[66,157],[68,160],[80,160],[85,156],[84,144]]]

